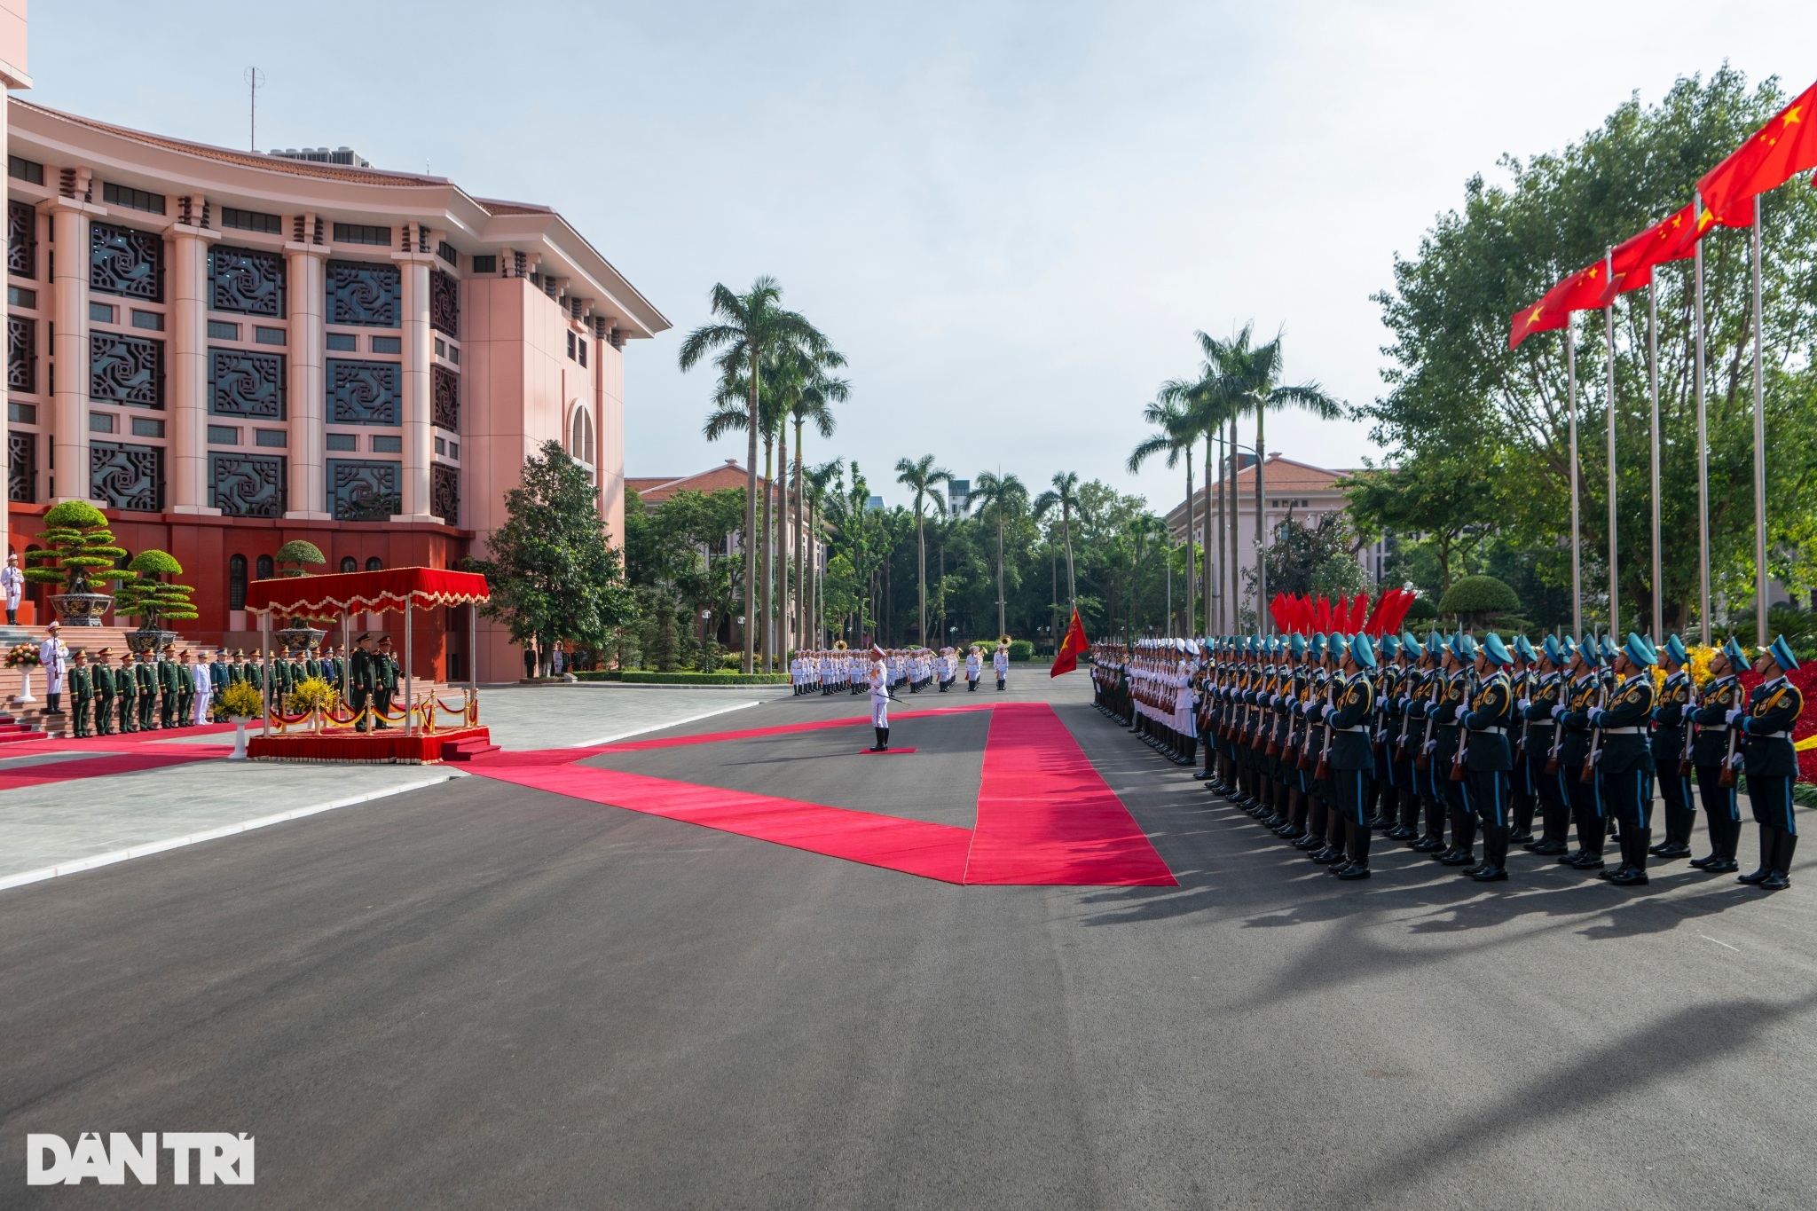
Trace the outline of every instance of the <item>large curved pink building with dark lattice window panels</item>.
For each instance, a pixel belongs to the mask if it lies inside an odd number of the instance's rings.
[[[623,350],[669,321],[552,209],[18,98],[7,127],[11,550],[93,499],[184,565],[184,634],[243,646],[282,543],[314,572],[483,556],[545,441],[620,541]],[[478,652],[463,612],[414,630],[418,675],[521,670],[487,619]]]

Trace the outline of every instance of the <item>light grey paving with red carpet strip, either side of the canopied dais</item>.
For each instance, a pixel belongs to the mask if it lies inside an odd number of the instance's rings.
[[[480,717],[503,748],[603,744],[741,712],[769,686],[500,686]],[[462,777],[458,766],[225,761],[231,728],[0,748],[0,888],[142,857]]]

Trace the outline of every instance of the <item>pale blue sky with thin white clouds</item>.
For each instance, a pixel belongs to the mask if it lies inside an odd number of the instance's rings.
[[[245,147],[351,145],[556,207],[672,323],[625,358],[627,474],[743,458],[676,367],[716,281],[774,276],[849,367],[809,458],[959,478],[1125,467],[1194,332],[1283,334],[1286,378],[1381,394],[1372,294],[1472,174],[1732,62],[1817,78],[1817,7],[1147,2],[35,4],[31,100]],[[1802,51],[1801,51],[1802,47]],[[1612,232],[1613,238],[1628,232]],[[1254,439],[1254,432],[1245,441]],[[1321,467],[1368,428],[1270,416]]]

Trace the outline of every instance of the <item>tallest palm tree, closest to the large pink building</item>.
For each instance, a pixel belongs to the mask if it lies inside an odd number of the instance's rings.
[[[703,323],[689,332],[681,341],[678,361],[683,370],[692,370],[705,356],[720,350],[716,365],[721,378],[729,378],[740,369],[747,378],[745,401],[745,619],[756,617],[756,581],[758,581],[758,390],[761,387],[761,361],[765,354],[781,349],[807,349],[821,352],[827,338],[805,316],[781,307],[781,287],[776,278],[758,278],[745,294],[732,292],[725,283],[714,283],[709,294],[710,314],[716,323]],[[745,628],[743,670],[750,672],[756,628]]]

